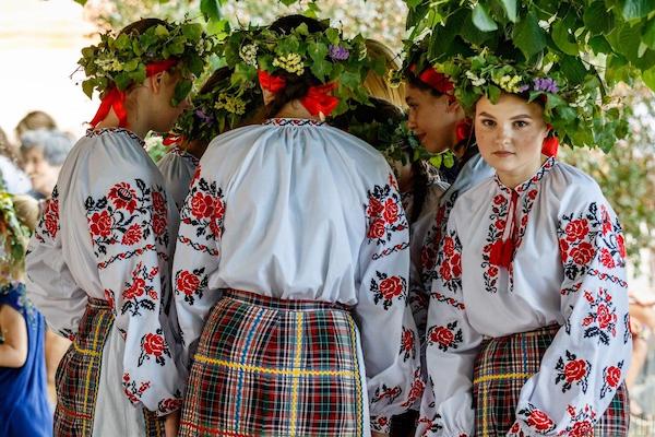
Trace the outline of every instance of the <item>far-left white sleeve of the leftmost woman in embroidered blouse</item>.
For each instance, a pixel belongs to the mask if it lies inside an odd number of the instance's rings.
[[[59,192],[46,201],[25,258],[27,293],[48,326],[73,340],[86,309],[86,293],[78,287],[61,253]]]

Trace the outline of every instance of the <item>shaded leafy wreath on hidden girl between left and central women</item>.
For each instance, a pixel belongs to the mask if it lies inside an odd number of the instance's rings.
[[[235,86],[230,76],[213,90],[196,94],[172,129],[175,135],[191,140],[211,141],[214,137],[237,128],[259,105],[263,105],[260,87],[254,82]]]

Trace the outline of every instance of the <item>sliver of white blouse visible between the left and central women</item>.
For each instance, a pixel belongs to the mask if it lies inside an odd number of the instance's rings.
[[[187,193],[189,193],[189,184],[198,164],[200,164],[199,158],[177,145],[170,147],[157,163],[157,168],[164,176],[166,191],[175,200],[178,211],[182,209]]]

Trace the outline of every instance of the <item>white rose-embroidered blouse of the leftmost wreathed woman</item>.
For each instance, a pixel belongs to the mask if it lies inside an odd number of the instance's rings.
[[[179,408],[171,336],[177,323],[167,316],[178,221],[162,175],[135,134],[88,130],[78,141],[29,241],[27,292],[48,324],[71,339],[88,297],[112,307],[102,371],[118,368],[118,375],[116,381],[102,379],[110,387],[100,387],[109,394],[98,395],[98,405],[126,411],[122,404],[134,410],[130,402],[142,403],[158,414]]]

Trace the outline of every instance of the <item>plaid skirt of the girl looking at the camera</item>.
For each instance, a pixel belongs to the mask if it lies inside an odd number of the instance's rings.
[[[558,324],[552,324],[483,342],[473,379],[476,437],[507,435],[516,418],[521,389],[539,371],[541,357],[559,329]],[[628,436],[629,423],[630,402],[626,383],[622,383],[596,423],[594,436]]]

